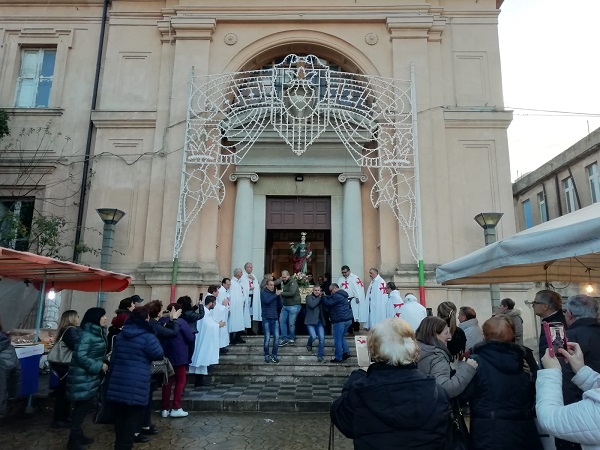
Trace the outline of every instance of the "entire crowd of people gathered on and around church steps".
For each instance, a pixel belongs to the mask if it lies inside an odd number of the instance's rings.
[[[304,304],[306,350],[318,362],[325,362],[328,324],[331,363],[351,357],[346,335],[368,330],[372,363],[352,373],[331,407],[333,422],[357,449],[458,448],[450,436],[466,430],[465,412],[472,449],[541,449],[544,434],[556,437],[558,450],[600,448],[596,299],[576,295],[563,303],[554,291],[536,294],[531,304],[542,321],[538,364],[523,345],[521,310],[512,299],[503,299],[480,325],[474,308],[450,301],[428,316],[414,295],[403,298],[377,269],[369,275],[365,289],[348,266],[337,282],[324,274],[315,283],[308,274],[311,292],[302,299],[288,271],[278,279],[266,274],[259,282],[247,263],[232,278],[209,286],[196,304],[189,296],[166,308],[159,300],[143,304],[137,295],[123,299],[108,329],[102,308],[90,308],[81,320],[77,311],[65,311],[55,342],[72,358],[52,365],[57,379],[52,427],[70,429],[68,449],[86,448],[93,439],[84,421],[100,399],[113,411],[115,449],[147,442],[158,432],[151,420],[155,391],[162,394],[162,417],[186,417],[182,395],[188,374],[196,387],[205,385],[209,366],[253,330],[264,335],[265,363],[279,363],[279,348],[296,343]],[[545,322],[566,330],[568,344],[554,349],[554,356]],[[19,363],[1,329],[0,369],[2,415],[6,399],[18,390]]]

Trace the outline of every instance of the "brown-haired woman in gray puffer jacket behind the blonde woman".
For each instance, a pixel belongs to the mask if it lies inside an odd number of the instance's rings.
[[[477,372],[477,363],[473,359],[458,361],[456,370],[450,366],[452,357],[446,347],[450,340],[450,329],[446,321],[439,317],[426,317],[417,333],[421,354],[419,370],[431,375],[444,388],[448,397],[458,397],[465,390]]]

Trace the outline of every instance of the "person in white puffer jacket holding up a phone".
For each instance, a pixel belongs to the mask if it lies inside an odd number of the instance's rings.
[[[543,370],[536,381],[536,413],[540,428],[551,436],[581,444],[583,450],[600,449],[600,374],[584,365],[581,347],[568,344],[569,352],[559,349],[575,376],[571,379],[584,391],[583,399],[563,404],[562,370],[548,349],[542,358]]]

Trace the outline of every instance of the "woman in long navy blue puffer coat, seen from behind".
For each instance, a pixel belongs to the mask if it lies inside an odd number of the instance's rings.
[[[148,310],[135,308],[115,338],[106,400],[115,404],[115,450],[133,448],[148,405],[152,361],[163,349],[148,323]]]

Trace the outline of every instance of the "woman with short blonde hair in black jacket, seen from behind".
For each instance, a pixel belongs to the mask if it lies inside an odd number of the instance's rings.
[[[410,325],[392,317],[368,336],[372,364],[355,370],[331,418],[362,449],[443,449],[448,432],[448,396],[417,369],[419,346]]]

